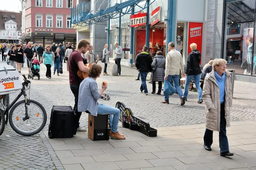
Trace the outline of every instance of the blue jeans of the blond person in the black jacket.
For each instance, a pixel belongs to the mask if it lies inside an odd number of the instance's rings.
[[[200,87],[200,77],[201,77],[201,74],[197,74],[197,75],[192,75],[192,76],[189,76],[189,75],[186,75],[186,81],[185,81],[185,87],[184,87],[184,96],[185,96],[185,99],[187,99],[187,96],[189,94],[189,83],[191,81],[191,79],[194,77],[194,80],[195,80],[195,87],[198,91],[198,95],[199,95],[199,100],[202,99],[202,88]]]

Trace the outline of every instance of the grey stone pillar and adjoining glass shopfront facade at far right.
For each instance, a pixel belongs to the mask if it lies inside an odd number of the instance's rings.
[[[226,59],[237,80],[256,82],[256,0],[208,1],[207,59]]]

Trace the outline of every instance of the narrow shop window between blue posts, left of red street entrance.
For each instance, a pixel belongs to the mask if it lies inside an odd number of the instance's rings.
[[[131,31],[129,27],[121,29],[122,59],[130,59]]]

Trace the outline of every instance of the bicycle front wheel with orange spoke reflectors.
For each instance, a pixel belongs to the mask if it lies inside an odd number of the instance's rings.
[[[27,117],[26,116],[27,106]],[[44,107],[35,100],[17,102],[9,113],[9,122],[12,129],[23,136],[32,136],[39,133],[45,126],[47,114]]]

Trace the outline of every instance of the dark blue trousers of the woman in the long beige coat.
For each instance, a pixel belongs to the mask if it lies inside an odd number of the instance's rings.
[[[228,140],[227,140],[227,130],[226,130],[226,119],[225,119],[225,103],[221,104],[221,122],[219,131],[219,145],[222,152],[229,152]],[[213,138],[213,131],[205,129],[204,133],[204,145],[211,146]]]

